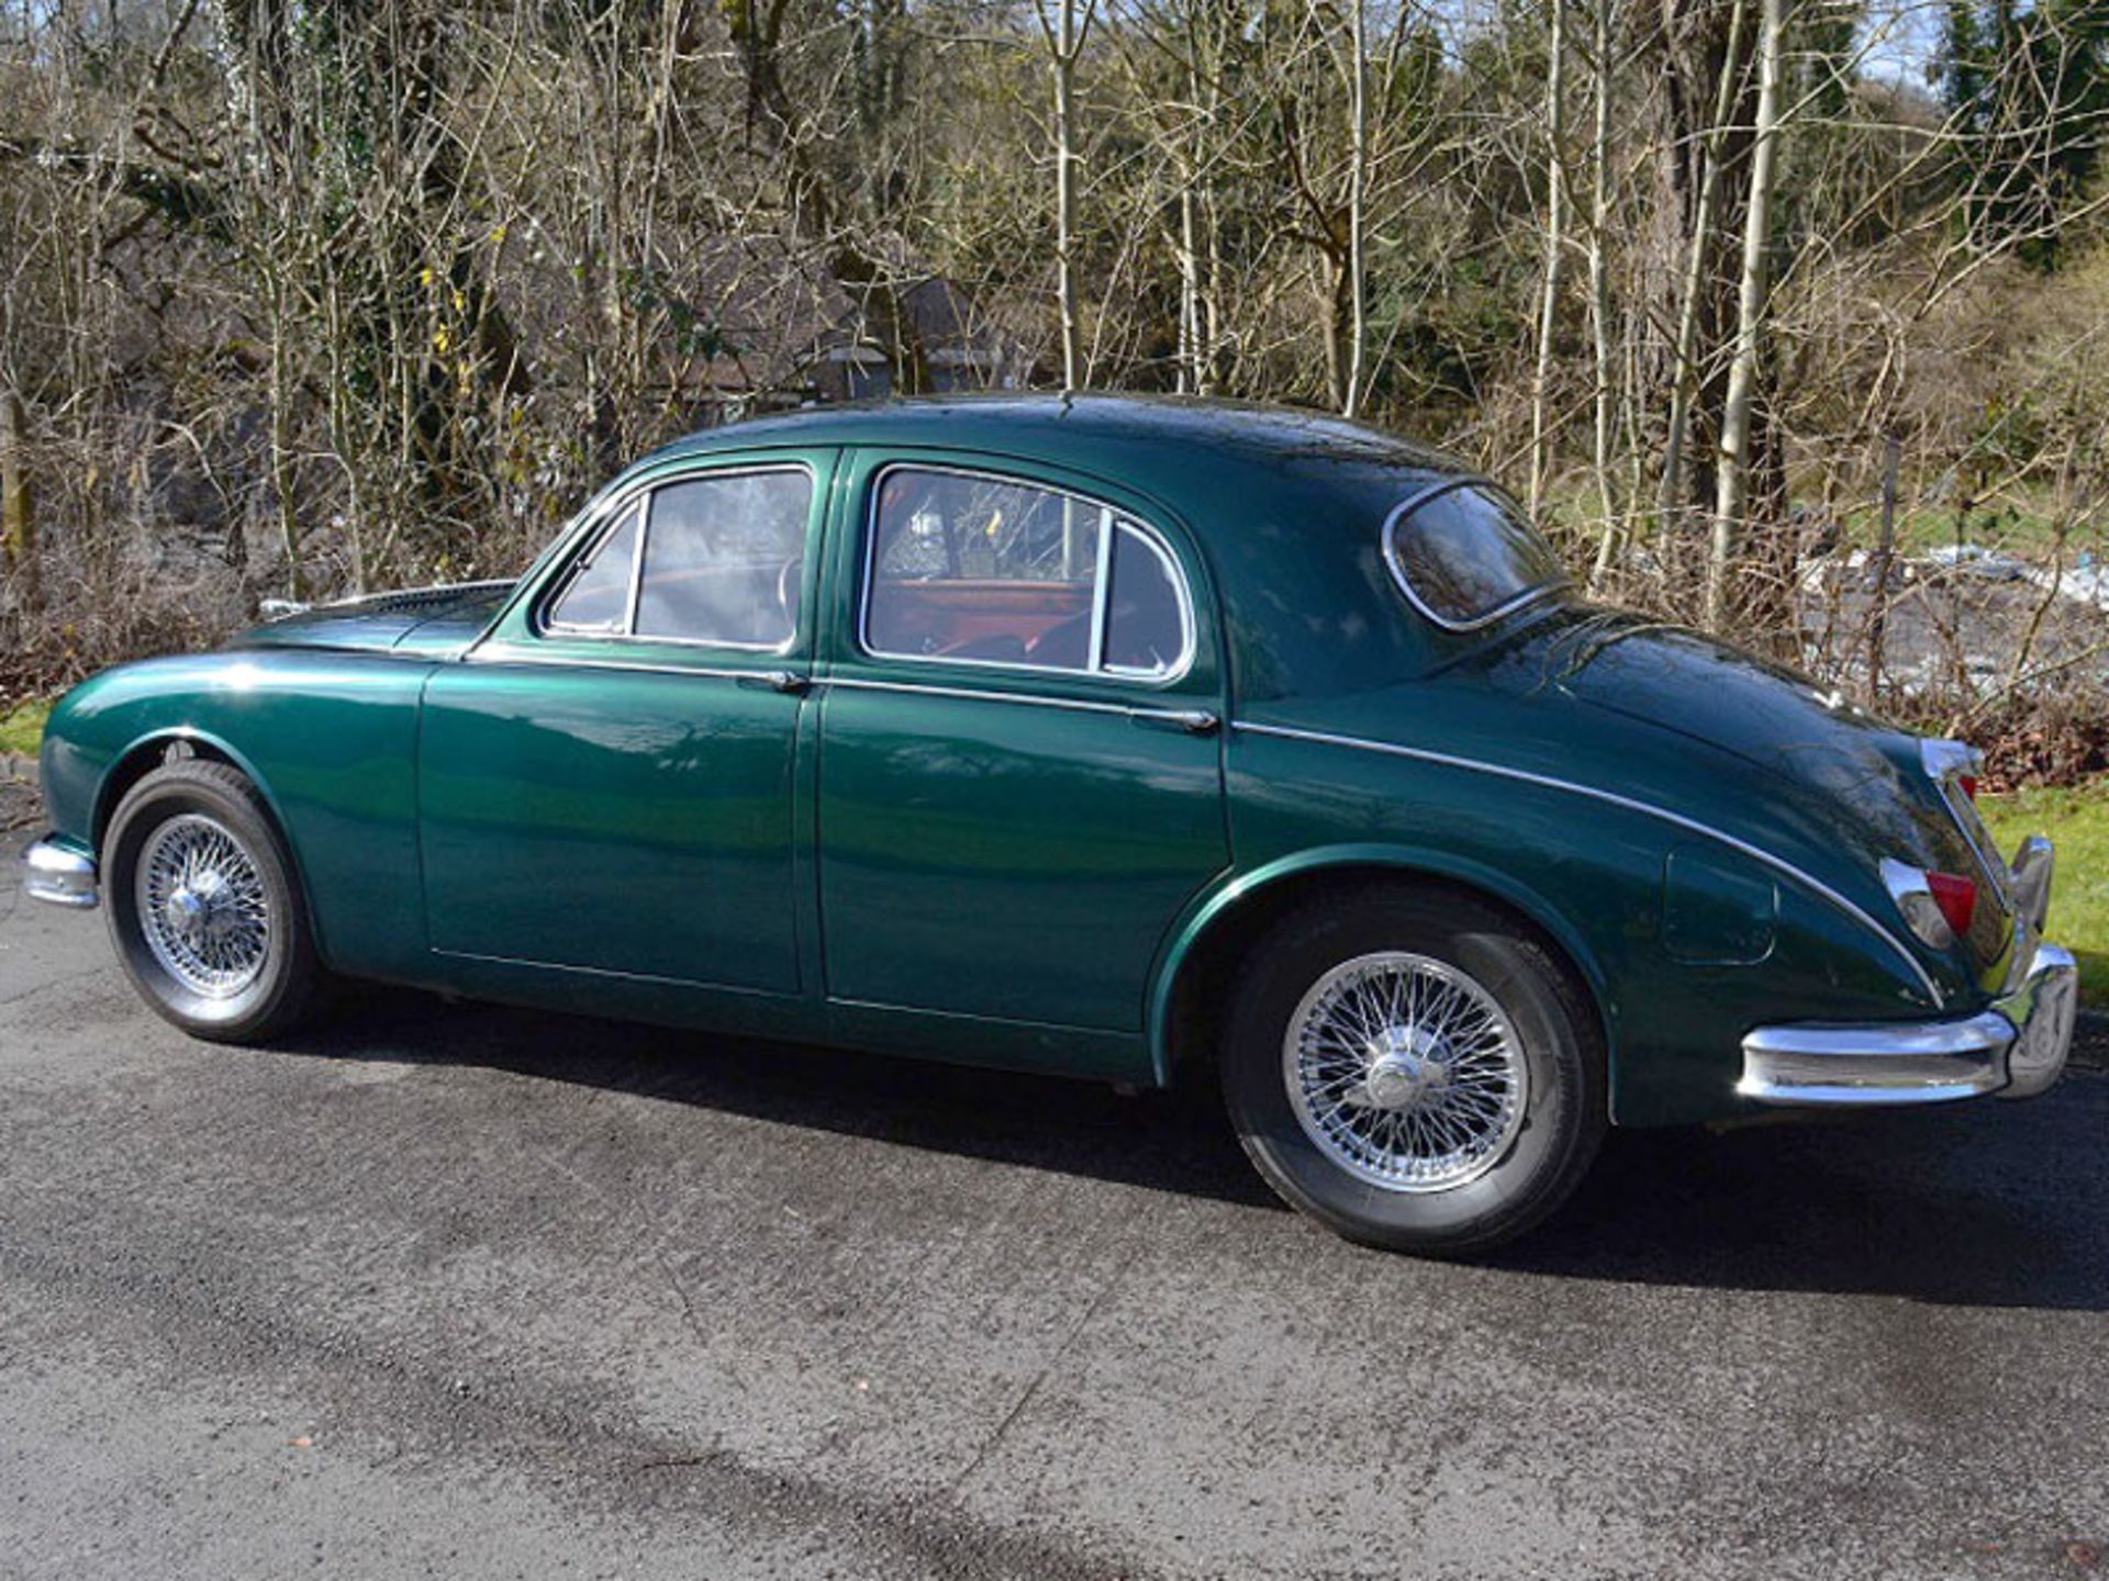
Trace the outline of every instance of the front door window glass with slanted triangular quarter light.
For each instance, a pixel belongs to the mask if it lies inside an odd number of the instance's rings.
[[[542,628],[787,647],[806,580],[812,474],[711,472],[652,489],[588,550]]]

